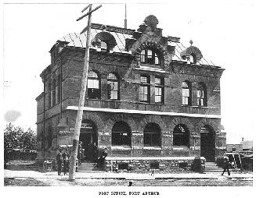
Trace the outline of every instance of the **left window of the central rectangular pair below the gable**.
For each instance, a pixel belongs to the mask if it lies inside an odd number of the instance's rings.
[[[139,101],[150,102],[150,76],[140,76]]]

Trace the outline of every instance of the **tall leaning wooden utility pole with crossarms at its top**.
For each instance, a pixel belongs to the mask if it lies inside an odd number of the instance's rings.
[[[86,9],[89,9],[89,12],[87,12],[85,15],[77,19],[78,21],[83,19],[85,16],[88,16],[88,25],[87,25],[87,28],[85,28],[87,30],[86,48],[85,48],[85,64],[84,64],[83,76],[81,80],[81,91],[80,91],[79,104],[78,104],[78,115],[77,115],[76,123],[74,126],[74,140],[73,140],[72,154],[70,156],[69,180],[71,182],[73,182],[75,179],[74,174],[75,174],[76,161],[78,156],[78,143],[79,143],[79,136],[80,136],[80,129],[81,129],[81,120],[83,116],[83,108],[85,105],[85,93],[86,93],[87,80],[88,80],[88,62],[89,62],[89,49],[90,49],[89,45],[90,45],[92,12],[96,11],[101,6],[102,5],[99,5],[98,7],[96,7],[96,9],[92,9],[92,4],[87,5],[85,9],[83,9],[81,12],[85,12]]]

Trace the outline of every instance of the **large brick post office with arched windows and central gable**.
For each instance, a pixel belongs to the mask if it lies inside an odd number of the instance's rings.
[[[179,37],[162,35],[155,16],[138,30],[92,23],[80,140],[107,147],[107,168],[191,168],[195,159],[214,161],[225,152],[220,78],[224,69],[208,62]],[[68,34],[49,51],[41,72],[38,102],[38,161],[55,159],[71,145],[85,56],[85,34]],[[184,165],[185,164],[185,165]]]

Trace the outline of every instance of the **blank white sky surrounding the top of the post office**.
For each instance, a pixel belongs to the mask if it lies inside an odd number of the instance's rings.
[[[39,75],[50,64],[49,50],[59,38],[79,33],[87,25],[87,19],[76,21],[87,2],[57,2],[2,5],[3,126],[12,121],[15,126],[36,130],[35,98],[43,91]],[[92,23],[124,27],[121,2],[125,1],[118,2],[103,3],[93,13]],[[252,140],[255,132],[255,10],[255,1],[250,0],[127,3],[128,28],[137,30],[153,14],[164,36],[181,37],[187,47],[193,40],[205,58],[225,69],[221,99],[227,143],[240,143],[242,137]]]

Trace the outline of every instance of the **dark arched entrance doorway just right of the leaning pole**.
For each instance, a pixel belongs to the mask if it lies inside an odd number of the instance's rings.
[[[98,141],[96,126],[93,122],[88,120],[82,122],[79,142],[81,142],[81,147],[84,150],[81,162],[95,161],[97,157]]]

